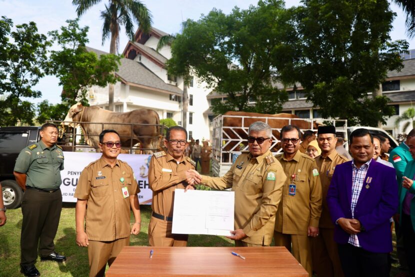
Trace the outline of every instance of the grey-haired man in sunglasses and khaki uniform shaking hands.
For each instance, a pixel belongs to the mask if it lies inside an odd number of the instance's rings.
[[[226,236],[235,246],[269,245],[275,212],[286,179],[281,165],[269,151],[271,128],[254,122],[248,130],[249,153],[242,153],[222,177],[202,176],[203,185],[232,188],[235,192],[235,230]]]

